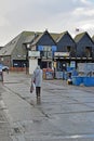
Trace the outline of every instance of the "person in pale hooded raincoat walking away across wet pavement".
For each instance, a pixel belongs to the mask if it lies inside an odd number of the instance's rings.
[[[37,66],[37,68],[35,69],[32,79],[36,86],[36,95],[38,99],[40,98],[41,86],[42,86],[42,69],[40,68],[40,66]]]

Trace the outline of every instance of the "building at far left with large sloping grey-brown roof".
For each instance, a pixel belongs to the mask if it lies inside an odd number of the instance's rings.
[[[33,35],[32,31],[23,31],[0,50],[0,62],[9,67],[24,67],[26,65],[26,37]]]

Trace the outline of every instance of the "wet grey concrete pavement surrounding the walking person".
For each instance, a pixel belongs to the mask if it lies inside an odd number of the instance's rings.
[[[38,101],[29,87],[29,75],[4,73],[0,92],[13,141],[94,141],[94,87],[43,80]]]

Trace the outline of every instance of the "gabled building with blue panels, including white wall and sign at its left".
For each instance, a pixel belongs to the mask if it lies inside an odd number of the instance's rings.
[[[31,41],[26,42],[29,44],[29,74],[33,72],[37,65],[41,68],[53,68],[54,52],[57,51],[56,42],[45,30],[42,34],[35,34]]]

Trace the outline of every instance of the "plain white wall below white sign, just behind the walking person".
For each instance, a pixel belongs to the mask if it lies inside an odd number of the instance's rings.
[[[38,66],[38,59],[29,59],[29,74],[33,74],[33,70]]]

